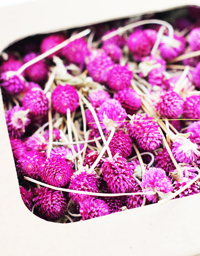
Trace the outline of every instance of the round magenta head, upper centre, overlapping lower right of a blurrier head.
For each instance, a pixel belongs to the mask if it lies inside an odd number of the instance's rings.
[[[128,66],[115,64],[108,73],[108,86],[112,90],[123,90],[131,85],[133,72],[128,69]]]

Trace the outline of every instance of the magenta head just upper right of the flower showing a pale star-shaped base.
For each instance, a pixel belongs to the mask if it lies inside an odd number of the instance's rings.
[[[22,105],[25,109],[29,109],[31,118],[35,120],[47,114],[49,100],[43,90],[33,88],[25,95]]]

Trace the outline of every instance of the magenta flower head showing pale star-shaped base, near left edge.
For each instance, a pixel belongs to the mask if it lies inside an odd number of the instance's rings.
[[[20,138],[25,133],[25,128],[30,124],[29,110],[24,107],[14,106],[5,113],[9,135]]]

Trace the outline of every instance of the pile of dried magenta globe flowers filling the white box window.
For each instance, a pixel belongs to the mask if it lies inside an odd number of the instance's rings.
[[[200,192],[200,9],[177,13],[2,53],[20,192],[35,215],[74,222]]]

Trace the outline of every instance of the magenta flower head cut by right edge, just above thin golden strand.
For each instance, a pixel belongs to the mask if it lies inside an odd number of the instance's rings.
[[[187,97],[183,107],[184,118],[200,119],[200,95]]]

